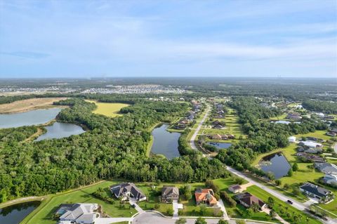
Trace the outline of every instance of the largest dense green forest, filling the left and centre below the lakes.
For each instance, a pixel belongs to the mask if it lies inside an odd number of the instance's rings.
[[[110,95],[108,100],[119,99]],[[121,110],[124,116],[115,118],[91,113],[95,105],[80,98],[56,103],[70,105],[58,114],[59,121],[88,127],[79,136],[26,142],[23,140],[37,127],[0,129],[0,202],[60,192],[101,179],[188,183],[229,175],[222,162],[200,153],[172,160],[146,157],[149,128],[185,114],[189,107],[187,103],[128,100],[133,105]]]

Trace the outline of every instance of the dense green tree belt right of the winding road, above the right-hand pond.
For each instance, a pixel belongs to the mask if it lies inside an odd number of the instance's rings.
[[[252,97],[236,97],[228,105],[238,111],[239,121],[248,138],[228,150],[220,150],[217,158],[240,170],[250,169],[263,175],[262,171],[250,165],[257,154],[270,152],[277,147],[286,147],[289,144],[288,137],[293,134],[327,129],[322,121],[306,117],[300,124],[275,124],[265,121],[263,119],[275,117],[281,112],[261,106],[260,102]]]

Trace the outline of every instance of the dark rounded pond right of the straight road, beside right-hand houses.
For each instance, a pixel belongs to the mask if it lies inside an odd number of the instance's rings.
[[[270,154],[263,157],[259,163],[260,168],[266,173],[274,173],[275,179],[286,176],[291,166],[282,153]]]

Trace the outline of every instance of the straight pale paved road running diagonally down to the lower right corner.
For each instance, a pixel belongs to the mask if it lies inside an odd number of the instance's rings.
[[[277,192],[276,190],[272,190],[269,187],[266,187],[265,185],[256,182],[255,180],[252,180],[251,178],[247,177],[244,175],[244,173],[237,171],[236,169],[232,169],[232,167],[227,166],[227,170],[230,171],[231,173],[234,173],[235,175],[244,178],[245,180],[249,181],[250,183],[253,183],[254,185],[260,187],[261,189],[265,190],[266,192],[270,193],[270,195],[273,195],[275,197],[277,197],[278,199],[281,199],[282,201],[286,202],[287,200],[291,200],[291,202],[293,202],[293,204],[289,204],[289,206],[293,206],[294,208],[300,210],[300,211],[304,211],[305,209],[309,209],[310,204],[314,204],[315,200],[309,200],[308,202],[305,203],[301,203],[301,202],[297,202],[296,200],[290,198],[290,197],[286,197],[285,195],[282,195],[280,192]],[[321,220],[322,223],[329,223],[329,224],[335,224],[337,223],[336,219],[333,218],[328,218],[327,221]]]

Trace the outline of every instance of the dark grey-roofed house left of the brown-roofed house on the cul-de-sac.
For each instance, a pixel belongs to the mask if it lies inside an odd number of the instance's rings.
[[[136,187],[134,183],[121,183],[118,185],[112,185],[110,191],[115,197],[122,201],[127,200],[128,197],[133,197],[137,201],[141,202],[146,200],[144,193]]]

